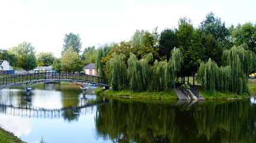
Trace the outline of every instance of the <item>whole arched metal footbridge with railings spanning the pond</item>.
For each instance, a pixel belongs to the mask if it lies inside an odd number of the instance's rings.
[[[99,86],[109,87],[108,79],[99,76],[89,76],[84,73],[64,73],[64,72],[48,72],[48,73],[33,73],[33,74],[19,74],[15,76],[2,77],[0,79],[0,89],[10,86],[23,86],[27,93],[32,86],[41,83],[60,83],[69,82],[81,85],[83,82],[92,83]],[[83,85],[81,85],[83,86]]]

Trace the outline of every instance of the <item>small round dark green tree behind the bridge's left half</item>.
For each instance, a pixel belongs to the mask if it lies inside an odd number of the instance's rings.
[[[28,55],[25,55],[25,54],[20,55],[17,66],[26,71],[35,69],[36,67],[35,55],[32,53]]]

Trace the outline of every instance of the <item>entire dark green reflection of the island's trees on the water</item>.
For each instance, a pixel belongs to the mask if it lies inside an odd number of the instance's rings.
[[[188,110],[112,101],[99,106],[96,130],[114,142],[252,142],[255,110],[248,100],[205,102]]]

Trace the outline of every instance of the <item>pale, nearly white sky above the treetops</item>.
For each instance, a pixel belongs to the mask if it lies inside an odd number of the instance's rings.
[[[70,32],[80,35],[83,50],[129,41],[136,29],[173,29],[184,16],[198,27],[211,11],[226,27],[255,24],[255,5],[255,0],[0,0],[0,49],[26,41],[36,54],[60,57]]]

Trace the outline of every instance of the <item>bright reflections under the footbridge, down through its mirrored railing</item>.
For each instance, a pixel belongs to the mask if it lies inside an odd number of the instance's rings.
[[[89,88],[89,93],[92,92]],[[106,104],[95,95],[82,95],[81,89],[70,85],[38,85],[27,96],[24,89],[4,89],[0,96],[0,113],[20,117],[60,118],[71,122],[86,113],[86,108]]]

